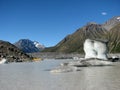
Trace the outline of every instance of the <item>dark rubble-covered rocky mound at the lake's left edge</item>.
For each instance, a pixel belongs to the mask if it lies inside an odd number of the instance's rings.
[[[31,57],[13,44],[0,40],[0,56],[6,57],[9,62],[14,61],[15,59],[30,60]]]

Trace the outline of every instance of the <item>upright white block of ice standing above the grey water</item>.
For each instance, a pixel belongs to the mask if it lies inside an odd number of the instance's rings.
[[[84,42],[85,58],[98,58],[108,60],[107,44],[100,40],[86,39]]]

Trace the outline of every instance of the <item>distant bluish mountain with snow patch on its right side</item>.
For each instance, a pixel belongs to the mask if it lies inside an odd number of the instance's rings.
[[[14,44],[16,47],[21,49],[25,53],[40,52],[45,47],[40,45],[36,41],[31,41],[29,39],[21,39]]]

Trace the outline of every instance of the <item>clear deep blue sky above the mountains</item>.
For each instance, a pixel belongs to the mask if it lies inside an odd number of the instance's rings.
[[[119,0],[0,0],[0,40],[54,46],[88,22],[119,15]]]

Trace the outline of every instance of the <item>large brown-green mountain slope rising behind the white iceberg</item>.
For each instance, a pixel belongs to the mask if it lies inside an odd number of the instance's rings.
[[[67,35],[54,47],[44,49],[43,52],[83,53],[83,43],[87,38],[107,40],[109,53],[119,53],[120,16],[115,16],[103,24],[87,23],[74,33]]]

